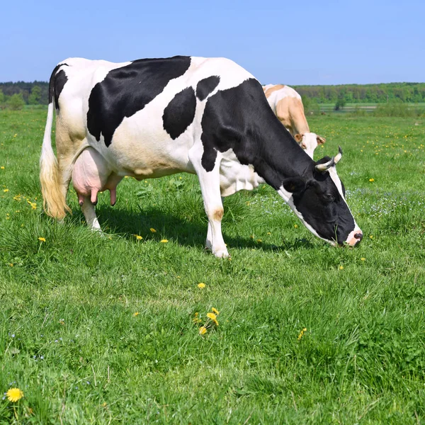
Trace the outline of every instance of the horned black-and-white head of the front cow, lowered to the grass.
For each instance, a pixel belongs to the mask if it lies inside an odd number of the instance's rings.
[[[345,189],[335,165],[342,157],[341,147],[336,157],[324,157],[312,162],[300,177],[283,181],[278,191],[316,236],[330,244],[358,244],[363,233],[345,200]]]

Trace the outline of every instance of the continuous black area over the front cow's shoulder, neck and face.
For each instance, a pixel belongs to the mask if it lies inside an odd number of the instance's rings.
[[[231,148],[241,164],[253,165],[270,186],[293,192],[295,208],[320,237],[346,241],[354,220],[344,198],[329,172],[318,172],[317,163],[280,124],[258,81],[248,79],[210,96],[201,125],[205,171],[214,169],[217,152]]]

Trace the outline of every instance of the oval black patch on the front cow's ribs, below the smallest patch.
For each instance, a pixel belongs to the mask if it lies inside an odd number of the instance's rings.
[[[195,118],[195,111],[196,97],[192,87],[188,87],[174,96],[162,115],[164,130],[171,136],[171,139],[179,137],[191,125]]]

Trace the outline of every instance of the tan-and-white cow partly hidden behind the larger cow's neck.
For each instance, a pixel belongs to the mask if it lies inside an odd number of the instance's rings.
[[[285,125],[302,149],[305,149],[305,152],[313,159],[314,149],[326,140],[310,132],[301,96],[292,87],[282,84],[268,84],[263,86],[263,91],[280,123]]]

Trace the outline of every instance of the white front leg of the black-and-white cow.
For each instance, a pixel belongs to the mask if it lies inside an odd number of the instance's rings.
[[[224,208],[220,195],[220,160],[217,159],[212,171],[206,171],[201,164],[198,149],[194,148],[189,152],[189,159],[198,175],[205,212],[208,216],[208,234],[205,245],[215,256],[227,257],[229,253],[221,231]]]

